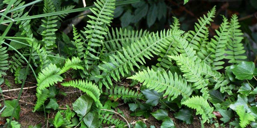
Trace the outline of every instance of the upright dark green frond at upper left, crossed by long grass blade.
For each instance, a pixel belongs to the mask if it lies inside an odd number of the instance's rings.
[[[51,0],[44,0],[44,13],[53,13],[55,12],[55,7],[53,5],[53,1]],[[53,49],[56,48],[57,45],[55,44],[55,27],[57,24],[55,24],[58,20],[56,20],[57,16],[46,16],[44,19],[41,21],[43,22],[42,27],[44,27],[44,31],[42,32],[42,36],[44,37],[42,41],[44,42],[44,47],[46,49]]]

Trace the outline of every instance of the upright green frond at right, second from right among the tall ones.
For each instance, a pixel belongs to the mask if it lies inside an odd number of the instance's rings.
[[[225,58],[225,48],[227,44],[227,35],[228,35],[228,19],[223,16],[223,22],[219,27],[219,31],[216,30],[217,36],[214,36],[214,39],[211,39],[209,43],[209,54],[205,57],[204,61],[211,63],[213,70],[222,69],[225,62],[220,61]],[[206,60],[210,57],[210,60]]]

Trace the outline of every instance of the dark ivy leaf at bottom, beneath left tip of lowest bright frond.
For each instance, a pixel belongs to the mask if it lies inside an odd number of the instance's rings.
[[[192,109],[180,109],[175,118],[185,121],[186,124],[192,124],[193,121],[193,111]]]

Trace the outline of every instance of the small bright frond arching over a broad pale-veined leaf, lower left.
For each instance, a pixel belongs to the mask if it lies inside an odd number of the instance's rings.
[[[78,88],[83,92],[86,92],[87,95],[89,95],[94,101],[96,106],[102,107],[102,104],[99,100],[100,97],[100,90],[98,86],[95,85],[95,83],[92,83],[91,81],[84,81],[84,80],[72,80],[65,83],[61,83],[62,86],[65,87],[74,87]]]

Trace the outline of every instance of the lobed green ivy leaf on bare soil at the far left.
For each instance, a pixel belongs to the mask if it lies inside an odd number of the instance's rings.
[[[5,100],[5,110],[2,112],[1,116],[2,117],[8,117],[11,116],[14,110],[15,102],[17,100]],[[19,120],[20,119],[20,105],[17,106],[14,112],[14,118]]]

